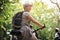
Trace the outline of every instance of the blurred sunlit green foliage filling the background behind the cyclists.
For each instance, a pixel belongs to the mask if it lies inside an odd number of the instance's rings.
[[[31,0],[30,0],[31,1]],[[45,2],[46,1],[46,2]],[[60,1],[59,0],[33,0],[30,14],[40,23],[46,24],[44,30],[38,31],[42,40],[54,40],[55,28],[60,28]],[[24,0],[22,1],[24,2]],[[47,4],[48,3],[48,4]],[[50,4],[49,4],[50,3]],[[0,39],[6,39],[7,30],[11,29],[12,16],[23,10],[21,0],[0,0]],[[33,24],[33,29],[37,25]]]

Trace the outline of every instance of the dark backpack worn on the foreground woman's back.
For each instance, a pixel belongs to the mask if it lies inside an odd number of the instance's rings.
[[[23,12],[16,13],[12,18],[12,25],[21,26]]]

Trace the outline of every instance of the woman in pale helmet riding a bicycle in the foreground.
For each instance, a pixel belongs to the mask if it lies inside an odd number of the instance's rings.
[[[22,15],[22,23],[21,26],[22,28],[20,29],[20,32],[23,35],[23,39],[22,40],[38,40],[32,33],[32,30],[30,29],[30,22],[35,23],[36,25],[38,25],[40,28],[43,29],[43,25],[40,24],[38,21],[36,21],[31,15],[30,15],[30,11],[32,9],[32,4],[30,3],[25,3],[23,5],[24,11],[23,11],[23,15]]]

